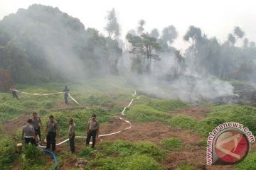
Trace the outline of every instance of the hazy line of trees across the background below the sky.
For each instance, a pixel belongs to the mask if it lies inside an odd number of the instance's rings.
[[[174,26],[161,32],[144,30],[146,22],[126,35],[121,34],[114,8],[107,13],[105,31],[85,28],[78,18],[68,16],[58,8],[32,5],[5,16],[0,21],[0,81],[35,83],[88,76],[118,74],[118,60],[129,51],[130,66],[137,74],[151,74],[154,63],[162,56],[174,58],[169,75],[186,72],[214,75],[221,79],[255,79],[255,42],[245,37],[236,26],[225,42],[208,38],[201,28],[190,26],[183,40],[190,43],[185,51],[172,47],[178,37]],[[242,47],[238,46],[242,41]],[[123,50],[124,44],[128,47]],[[7,84],[7,83],[6,83]]]

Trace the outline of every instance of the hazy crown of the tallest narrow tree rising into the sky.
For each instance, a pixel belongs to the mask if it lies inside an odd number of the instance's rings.
[[[117,22],[117,16],[114,11],[114,8],[112,8],[112,11],[108,12],[107,15],[107,26],[105,26],[105,30],[108,33],[108,36],[110,38],[118,38],[120,35],[120,28],[119,23]]]

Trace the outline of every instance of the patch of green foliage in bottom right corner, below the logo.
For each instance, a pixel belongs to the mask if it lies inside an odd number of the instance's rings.
[[[235,166],[235,170],[251,170],[256,167],[256,152],[250,152],[247,157]]]

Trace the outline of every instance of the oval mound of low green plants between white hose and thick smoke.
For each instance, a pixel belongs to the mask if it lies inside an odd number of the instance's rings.
[[[147,106],[151,106],[158,111],[173,111],[181,108],[187,108],[188,105],[180,100],[154,100],[149,101]]]

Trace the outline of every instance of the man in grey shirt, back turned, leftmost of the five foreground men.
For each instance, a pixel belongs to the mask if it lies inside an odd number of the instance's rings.
[[[22,128],[21,139],[25,140],[26,144],[31,143],[32,145],[36,145],[37,138],[31,119],[28,119],[27,124]]]

